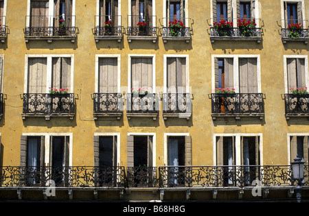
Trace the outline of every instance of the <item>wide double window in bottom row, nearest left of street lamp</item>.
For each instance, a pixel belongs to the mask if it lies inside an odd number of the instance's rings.
[[[218,184],[235,186],[242,171],[244,184],[250,185],[257,178],[261,164],[260,145],[261,136],[258,134],[216,136]],[[244,166],[243,169],[238,169],[239,165]]]

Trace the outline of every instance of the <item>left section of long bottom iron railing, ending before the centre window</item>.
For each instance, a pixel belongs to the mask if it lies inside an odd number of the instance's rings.
[[[1,167],[0,187],[124,187],[124,167]]]

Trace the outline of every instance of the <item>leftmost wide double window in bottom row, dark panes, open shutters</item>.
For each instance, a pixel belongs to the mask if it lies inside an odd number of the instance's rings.
[[[69,180],[71,165],[71,135],[23,134],[21,136],[21,167],[27,185],[45,185],[45,169],[57,186],[65,186]],[[47,151],[47,152],[46,152]]]

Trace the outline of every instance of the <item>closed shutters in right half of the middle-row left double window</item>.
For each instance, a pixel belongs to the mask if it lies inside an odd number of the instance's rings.
[[[71,58],[52,58],[52,88],[71,88]]]

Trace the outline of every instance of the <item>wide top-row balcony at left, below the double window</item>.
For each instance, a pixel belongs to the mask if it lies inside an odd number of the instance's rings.
[[[48,43],[71,40],[71,43],[75,43],[78,27],[75,26],[75,16],[66,17],[65,21],[53,16],[26,16],[23,32],[26,43],[29,40],[47,40]]]

